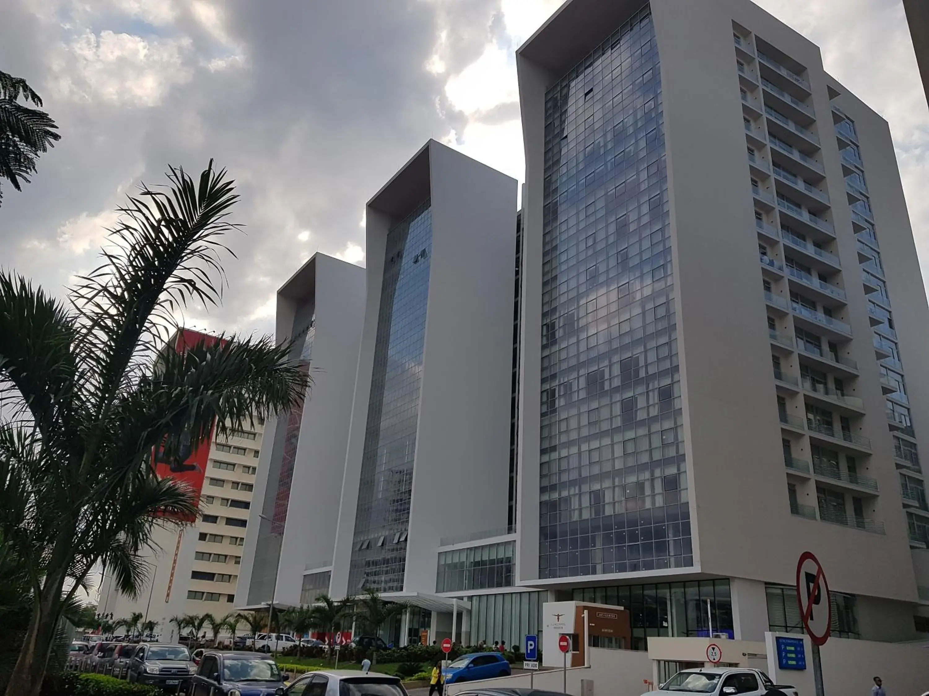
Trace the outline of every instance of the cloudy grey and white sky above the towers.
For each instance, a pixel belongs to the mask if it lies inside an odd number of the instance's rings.
[[[62,139],[25,192],[6,187],[0,266],[62,292],[126,192],[213,157],[246,233],[224,305],[188,320],[268,331],[274,290],[314,251],[364,264],[364,201],[427,138],[523,178],[514,49],[559,2],[4,0],[0,70]],[[890,122],[929,263],[929,110],[900,1],[759,2]]]

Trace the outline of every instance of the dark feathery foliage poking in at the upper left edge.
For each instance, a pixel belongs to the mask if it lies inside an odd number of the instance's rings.
[[[29,183],[39,154],[55,147],[55,141],[61,138],[55,133],[58,126],[51,117],[45,111],[20,104],[20,95],[27,104],[42,106],[42,97],[25,80],[0,71],[0,178],[7,179],[18,191],[22,190],[20,181]]]

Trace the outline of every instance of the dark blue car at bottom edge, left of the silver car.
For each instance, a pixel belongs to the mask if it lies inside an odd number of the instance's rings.
[[[206,651],[189,696],[273,696],[283,689],[277,663],[261,652]]]

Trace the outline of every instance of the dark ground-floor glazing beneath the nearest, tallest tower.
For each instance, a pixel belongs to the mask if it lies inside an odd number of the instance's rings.
[[[728,579],[575,589],[574,601],[628,609],[632,649],[648,650],[654,636],[700,638],[725,633],[734,638],[732,594]]]

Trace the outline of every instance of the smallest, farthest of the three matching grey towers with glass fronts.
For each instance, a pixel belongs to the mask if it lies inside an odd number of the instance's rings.
[[[312,384],[302,405],[268,420],[237,607],[306,604],[328,589],[304,579],[333,562],[364,289],[363,268],[316,253],[278,290],[276,336],[294,342]]]

